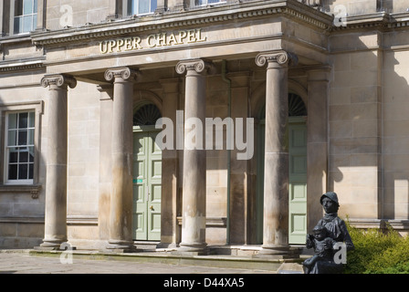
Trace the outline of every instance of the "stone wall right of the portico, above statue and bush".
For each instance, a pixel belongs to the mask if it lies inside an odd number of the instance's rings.
[[[373,218],[377,206],[378,219],[408,219],[409,58],[355,46],[362,51],[334,55],[329,189],[340,195],[340,213],[344,202],[351,217]]]

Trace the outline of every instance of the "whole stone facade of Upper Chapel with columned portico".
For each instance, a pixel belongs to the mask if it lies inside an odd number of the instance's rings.
[[[328,191],[406,233],[408,11],[0,0],[0,247],[286,254]]]

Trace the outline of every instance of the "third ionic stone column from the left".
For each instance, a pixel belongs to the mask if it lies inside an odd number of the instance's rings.
[[[180,252],[202,253],[205,251],[206,228],[206,153],[205,139],[196,136],[196,147],[186,139],[192,129],[189,119],[202,122],[205,126],[205,71],[206,63],[201,59],[179,62],[176,72],[184,74],[184,193],[182,207],[182,242]],[[197,129],[195,129],[197,130]],[[205,130],[205,127],[203,127]],[[196,131],[199,133],[199,131]],[[205,134],[203,132],[203,134]]]

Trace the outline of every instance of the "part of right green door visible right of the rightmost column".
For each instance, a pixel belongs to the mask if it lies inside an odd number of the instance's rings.
[[[302,119],[290,119],[288,152],[288,242],[304,245],[307,235],[307,126]]]

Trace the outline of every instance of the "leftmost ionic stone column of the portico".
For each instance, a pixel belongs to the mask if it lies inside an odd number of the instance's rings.
[[[77,80],[49,75],[41,79],[41,85],[49,90],[45,237],[40,248],[60,249],[67,241],[68,86],[74,89]]]

